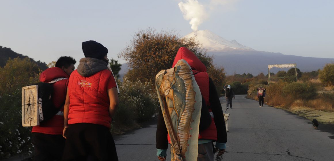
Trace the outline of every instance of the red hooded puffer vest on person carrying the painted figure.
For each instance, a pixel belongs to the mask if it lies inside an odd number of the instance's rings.
[[[199,86],[199,89],[206,104],[209,105],[209,75],[206,73],[205,65],[197,58],[194,53],[192,53],[185,47],[181,47],[177,52],[173,62],[173,67],[175,66],[177,61],[181,59],[186,60],[190,67],[193,69],[196,83]],[[211,112],[211,109],[209,109],[209,112]],[[214,124],[214,119],[211,118],[211,120],[212,121],[210,126],[207,129],[199,132],[199,139],[217,140],[217,128]],[[168,141],[170,141],[169,135]]]

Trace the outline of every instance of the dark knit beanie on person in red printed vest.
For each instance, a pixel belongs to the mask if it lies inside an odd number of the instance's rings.
[[[93,40],[82,42],[81,46],[86,58],[102,59],[108,54],[106,47]]]

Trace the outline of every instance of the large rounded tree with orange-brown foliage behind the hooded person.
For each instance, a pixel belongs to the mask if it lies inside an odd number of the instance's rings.
[[[130,45],[119,54],[129,62],[126,77],[130,81],[139,79],[154,84],[155,75],[160,70],[172,67],[180,47],[188,48],[207,68],[211,67],[212,57],[203,52],[194,39],[184,39],[170,31],[157,33],[149,28],[137,32]]]

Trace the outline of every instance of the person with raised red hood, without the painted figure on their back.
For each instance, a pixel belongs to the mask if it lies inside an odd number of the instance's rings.
[[[213,161],[214,153],[218,151],[218,156],[224,154],[227,142],[224,115],[217,94],[216,87],[212,79],[206,72],[205,65],[196,57],[194,53],[185,47],[181,47],[177,52],[173,67],[180,59],[184,59],[190,65],[196,83],[202,94],[202,111],[199,123],[198,137],[198,161]],[[168,131],[162,116],[161,110],[158,115],[158,125],[156,132],[156,148],[159,160],[166,160],[169,137]],[[215,148],[213,142],[216,142]]]

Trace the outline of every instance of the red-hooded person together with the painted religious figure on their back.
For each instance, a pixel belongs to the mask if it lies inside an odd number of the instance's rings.
[[[172,161],[213,161],[225,151],[226,129],[219,97],[204,64],[181,47],[173,68],[156,75],[161,106],[157,125],[157,156]],[[216,141],[216,148],[213,142]]]

